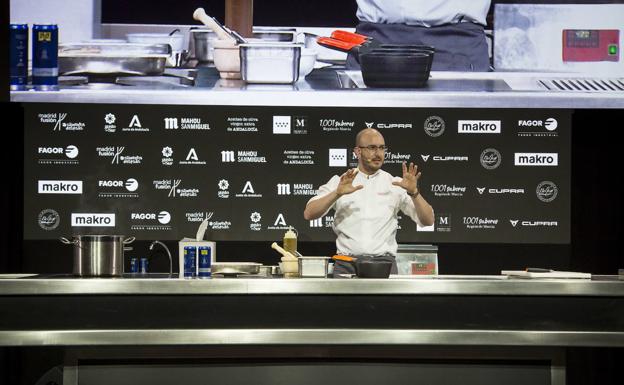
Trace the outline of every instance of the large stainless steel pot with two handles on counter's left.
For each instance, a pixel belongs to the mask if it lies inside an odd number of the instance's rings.
[[[74,235],[74,275],[81,277],[119,277],[123,273],[124,246],[134,242],[124,235]]]

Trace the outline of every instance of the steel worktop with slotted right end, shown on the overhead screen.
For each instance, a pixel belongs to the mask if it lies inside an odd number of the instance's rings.
[[[432,72],[420,89],[365,88],[359,71],[317,69],[292,85],[219,79],[216,70],[168,70],[157,79],[80,84],[61,78],[59,91],[13,91],[15,102],[169,105],[465,108],[624,108],[624,77],[560,73]],[[189,78],[191,82],[189,83]]]

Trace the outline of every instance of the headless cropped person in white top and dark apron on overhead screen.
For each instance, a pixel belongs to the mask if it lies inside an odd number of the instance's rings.
[[[357,0],[356,32],[381,43],[435,47],[434,71],[489,71],[483,27],[491,0]],[[359,69],[350,54],[347,67]]]

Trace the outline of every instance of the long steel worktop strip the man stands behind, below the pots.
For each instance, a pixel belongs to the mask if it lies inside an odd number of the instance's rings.
[[[624,280],[436,276],[392,279],[21,278],[0,279],[2,295],[508,295],[624,296]]]

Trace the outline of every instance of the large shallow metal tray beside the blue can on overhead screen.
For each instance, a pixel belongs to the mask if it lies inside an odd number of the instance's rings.
[[[170,56],[168,44],[60,44],[59,74],[160,75]]]

